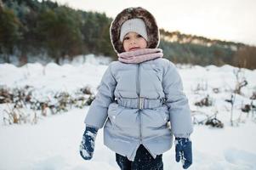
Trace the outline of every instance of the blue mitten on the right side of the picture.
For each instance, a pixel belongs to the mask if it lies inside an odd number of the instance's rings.
[[[181,160],[183,168],[188,168],[192,164],[192,143],[187,138],[175,139],[176,161]]]

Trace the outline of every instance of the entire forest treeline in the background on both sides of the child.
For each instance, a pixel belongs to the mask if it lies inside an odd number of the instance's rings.
[[[0,56],[3,62],[9,62],[10,55],[18,56],[21,65],[28,55],[38,54],[56,63],[92,53],[117,59],[109,36],[111,20],[105,14],[48,0],[0,0]],[[256,48],[242,43],[161,30],[160,48],[175,63],[256,68]]]

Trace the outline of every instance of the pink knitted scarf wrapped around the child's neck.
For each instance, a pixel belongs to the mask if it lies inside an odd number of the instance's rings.
[[[118,60],[123,63],[142,63],[147,60],[163,56],[161,48],[143,48],[117,54]]]

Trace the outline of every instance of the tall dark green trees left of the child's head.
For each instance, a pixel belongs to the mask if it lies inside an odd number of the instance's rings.
[[[28,54],[61,58],[78,54],[114,56],[105,14],[74,10],[51,1],[3,0],[0,9],[0,54],[26,62]]]

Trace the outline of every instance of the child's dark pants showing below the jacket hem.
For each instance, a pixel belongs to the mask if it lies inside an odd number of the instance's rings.
[[[142,144],[139,145],[134,161],[117,153],[116,161],[121,170],[163,170],[162,155],[154,159]]]

